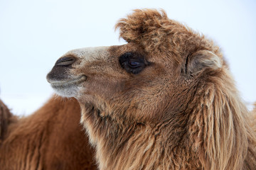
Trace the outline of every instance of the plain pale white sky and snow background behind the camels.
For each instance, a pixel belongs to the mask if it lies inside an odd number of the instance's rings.
[[[120,45],[114,24],[134,8],[163,8],[169,18],[223,50],[248,108],[256,101],[256,1],[0,0],[0,98],[27,115],[53,94],[46,74],[68,50]]]

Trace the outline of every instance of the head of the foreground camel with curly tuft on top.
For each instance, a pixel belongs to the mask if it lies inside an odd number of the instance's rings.
[[[55,63],[47,79],[60,96],[113,118],[155,123],[184,111],[191,88],[222,68],[218,47],[164,12],[136,11],[116,27],[126,45],[71,50]]]

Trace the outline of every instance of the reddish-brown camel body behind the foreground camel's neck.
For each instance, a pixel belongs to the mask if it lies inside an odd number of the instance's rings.
[[[24,118],[0,101],[0,169],[97,169],[75,98],[53,96]]]

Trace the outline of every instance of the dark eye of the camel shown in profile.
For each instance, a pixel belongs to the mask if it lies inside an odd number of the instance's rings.
[[[136,52],[126,52],[119,57],[119,64],[128,73],[139,74],[146,67],[146,61],[142,55]]]

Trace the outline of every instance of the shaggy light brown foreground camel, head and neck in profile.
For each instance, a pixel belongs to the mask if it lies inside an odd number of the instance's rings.
[[[48,74],[80,102],[99,168],[255,169],[252,118],[218,46],[164,11],[116,28],[126,45],[68,52]]]

